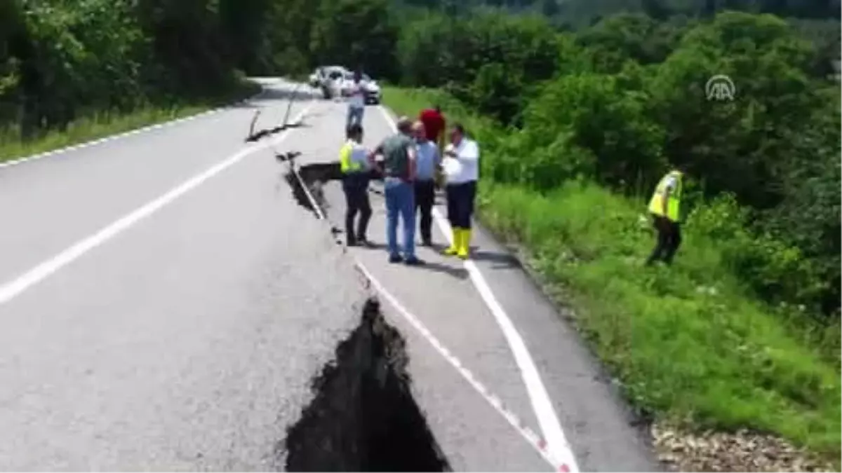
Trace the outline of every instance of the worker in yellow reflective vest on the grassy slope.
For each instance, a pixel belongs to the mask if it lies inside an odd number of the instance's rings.
[[[667,173],[649,201],[649,213],[653,216],[653,226],[658,232],[658,242],[646,261],[647,265],[655,261],[673,262],[675,252],[681,245],[681,194],[684,187],[684,173],[675,169]]]

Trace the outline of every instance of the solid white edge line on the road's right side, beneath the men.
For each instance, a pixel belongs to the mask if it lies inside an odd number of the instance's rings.
[[[392,115],[383,106],[378,106],[377,108],[380,109],[383,118],[386,119],[386,123],[391,126],[392,130],[397,131]],[[448,242],[452,242],[450,223],[435,208],[433,209],[433,217],[440,230],[444,232]],[[523,337],[520,336],[520,332],[514,327],[511,318],[504,311],[503,306],[500,305],[491,288],[488,287],[488,283],[482,276],[479,268],[477,268],[477,265],[470,259],[466,260],[464,264],[471,277],[471,281],[493,314],[494,320],[497,321],[500,330],[506,338],[506,342],[509,343],[509,348],[514,355],[514,362],[518,365],[520,376],[526,385],[526,392],[529,395],[530,404],[538,418],[541,433],[546,438],[547,448],[550,449],[554,458],[558,458],[564,464],[569,465],[571,473],[578,473],[578,465],[573,455],[573,449],[570,448],[568,439],[564,435],[562,423],[558,420],[558,415],[552,407],[550,395],[547,393],[543,381],[541,381],[541,375],[538,373],[538,368],[529,353],[529,349],[526,348]]]

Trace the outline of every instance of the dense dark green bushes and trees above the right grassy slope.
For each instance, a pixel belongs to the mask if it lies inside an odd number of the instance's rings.
[[[485,169],[496,181],[549,192],[589,178],[645,195],[669,163],[686,164],[696,203],[732,202],[758,238],[731,255],[746,284],[839,311],[842,92],[816,66],[828,45],[770,14],[622,13],[573,34],[491,11],[428,14],[399,50],[406,84],[445,88],[509,126]],[[717,74],[735,82],[733,102],[706,96]]]

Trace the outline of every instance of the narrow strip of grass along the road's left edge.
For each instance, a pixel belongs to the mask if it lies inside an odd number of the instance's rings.
[[[67,130],[48,130],[35,139],[22,141],[16,127],[0,128],[0,162],[12,161],[45,151],[72,146],[86,141],[93,141],[104,136],[136,130],[148,125],[155,125],[169,120],[177,120],[239,99],[247,98],[259,92],[259,86],[249,82],[230,94],[220,98],[204,100],[198,104],[179,104],[169,107],[147,106],[128,113],[99,112],[88,114],[73,121]]]

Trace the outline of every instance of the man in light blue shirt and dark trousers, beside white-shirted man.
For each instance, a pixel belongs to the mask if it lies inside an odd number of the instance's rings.
[[[413,125],[416,143],[417,173],[415,176],[415,209],[420,211],[421,242],[433,246],[433,204],[435,202],[435,174],[440,167],[439,147],[428,139],[424,123]]]

